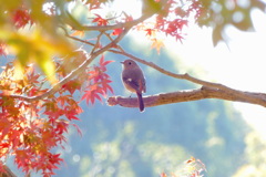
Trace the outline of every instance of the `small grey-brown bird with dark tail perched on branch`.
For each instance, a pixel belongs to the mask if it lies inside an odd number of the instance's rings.
[[[133,60],[125,60],[121,62],[123,64],[123,71],[121,79],[123,85],[130,92],[136,93],[139,108],[144,111],[144,103],[142,93],[146,93],[146,82],[142,69]]]

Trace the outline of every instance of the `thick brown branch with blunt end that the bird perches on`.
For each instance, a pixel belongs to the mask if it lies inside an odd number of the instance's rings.
[[[253,100],[249,98],[250,96],[254,96],[254,97],[260,96],[260,97],[266,98],[266,94],[264,94],[264,93],[244,92],[244,94],[247,96],[246,97],[237,96],[235,94],[228,93],[223,90],[203,86],[197,90],[187,90],[187,91],[161,93],[161,94],[156,94],[156,95],[144,96],[143,102],[144,102],[145,107],[153,107],[153,106],[158,106],[158,105],[164,105],[164,104],[191,102],[191,101],[198,101],[198,100],[204,100],[204,98],[219,98],[219,100],[253,103],[253,104],[257,104],[257,103],[253,102]],[[139,106],[136,97],[122,97],[122,96],[109,97],[108,104],[110,106],[120,105],[123,107],[137,107]],[[266,104],[259,104],[259,105],[266,107]]]

